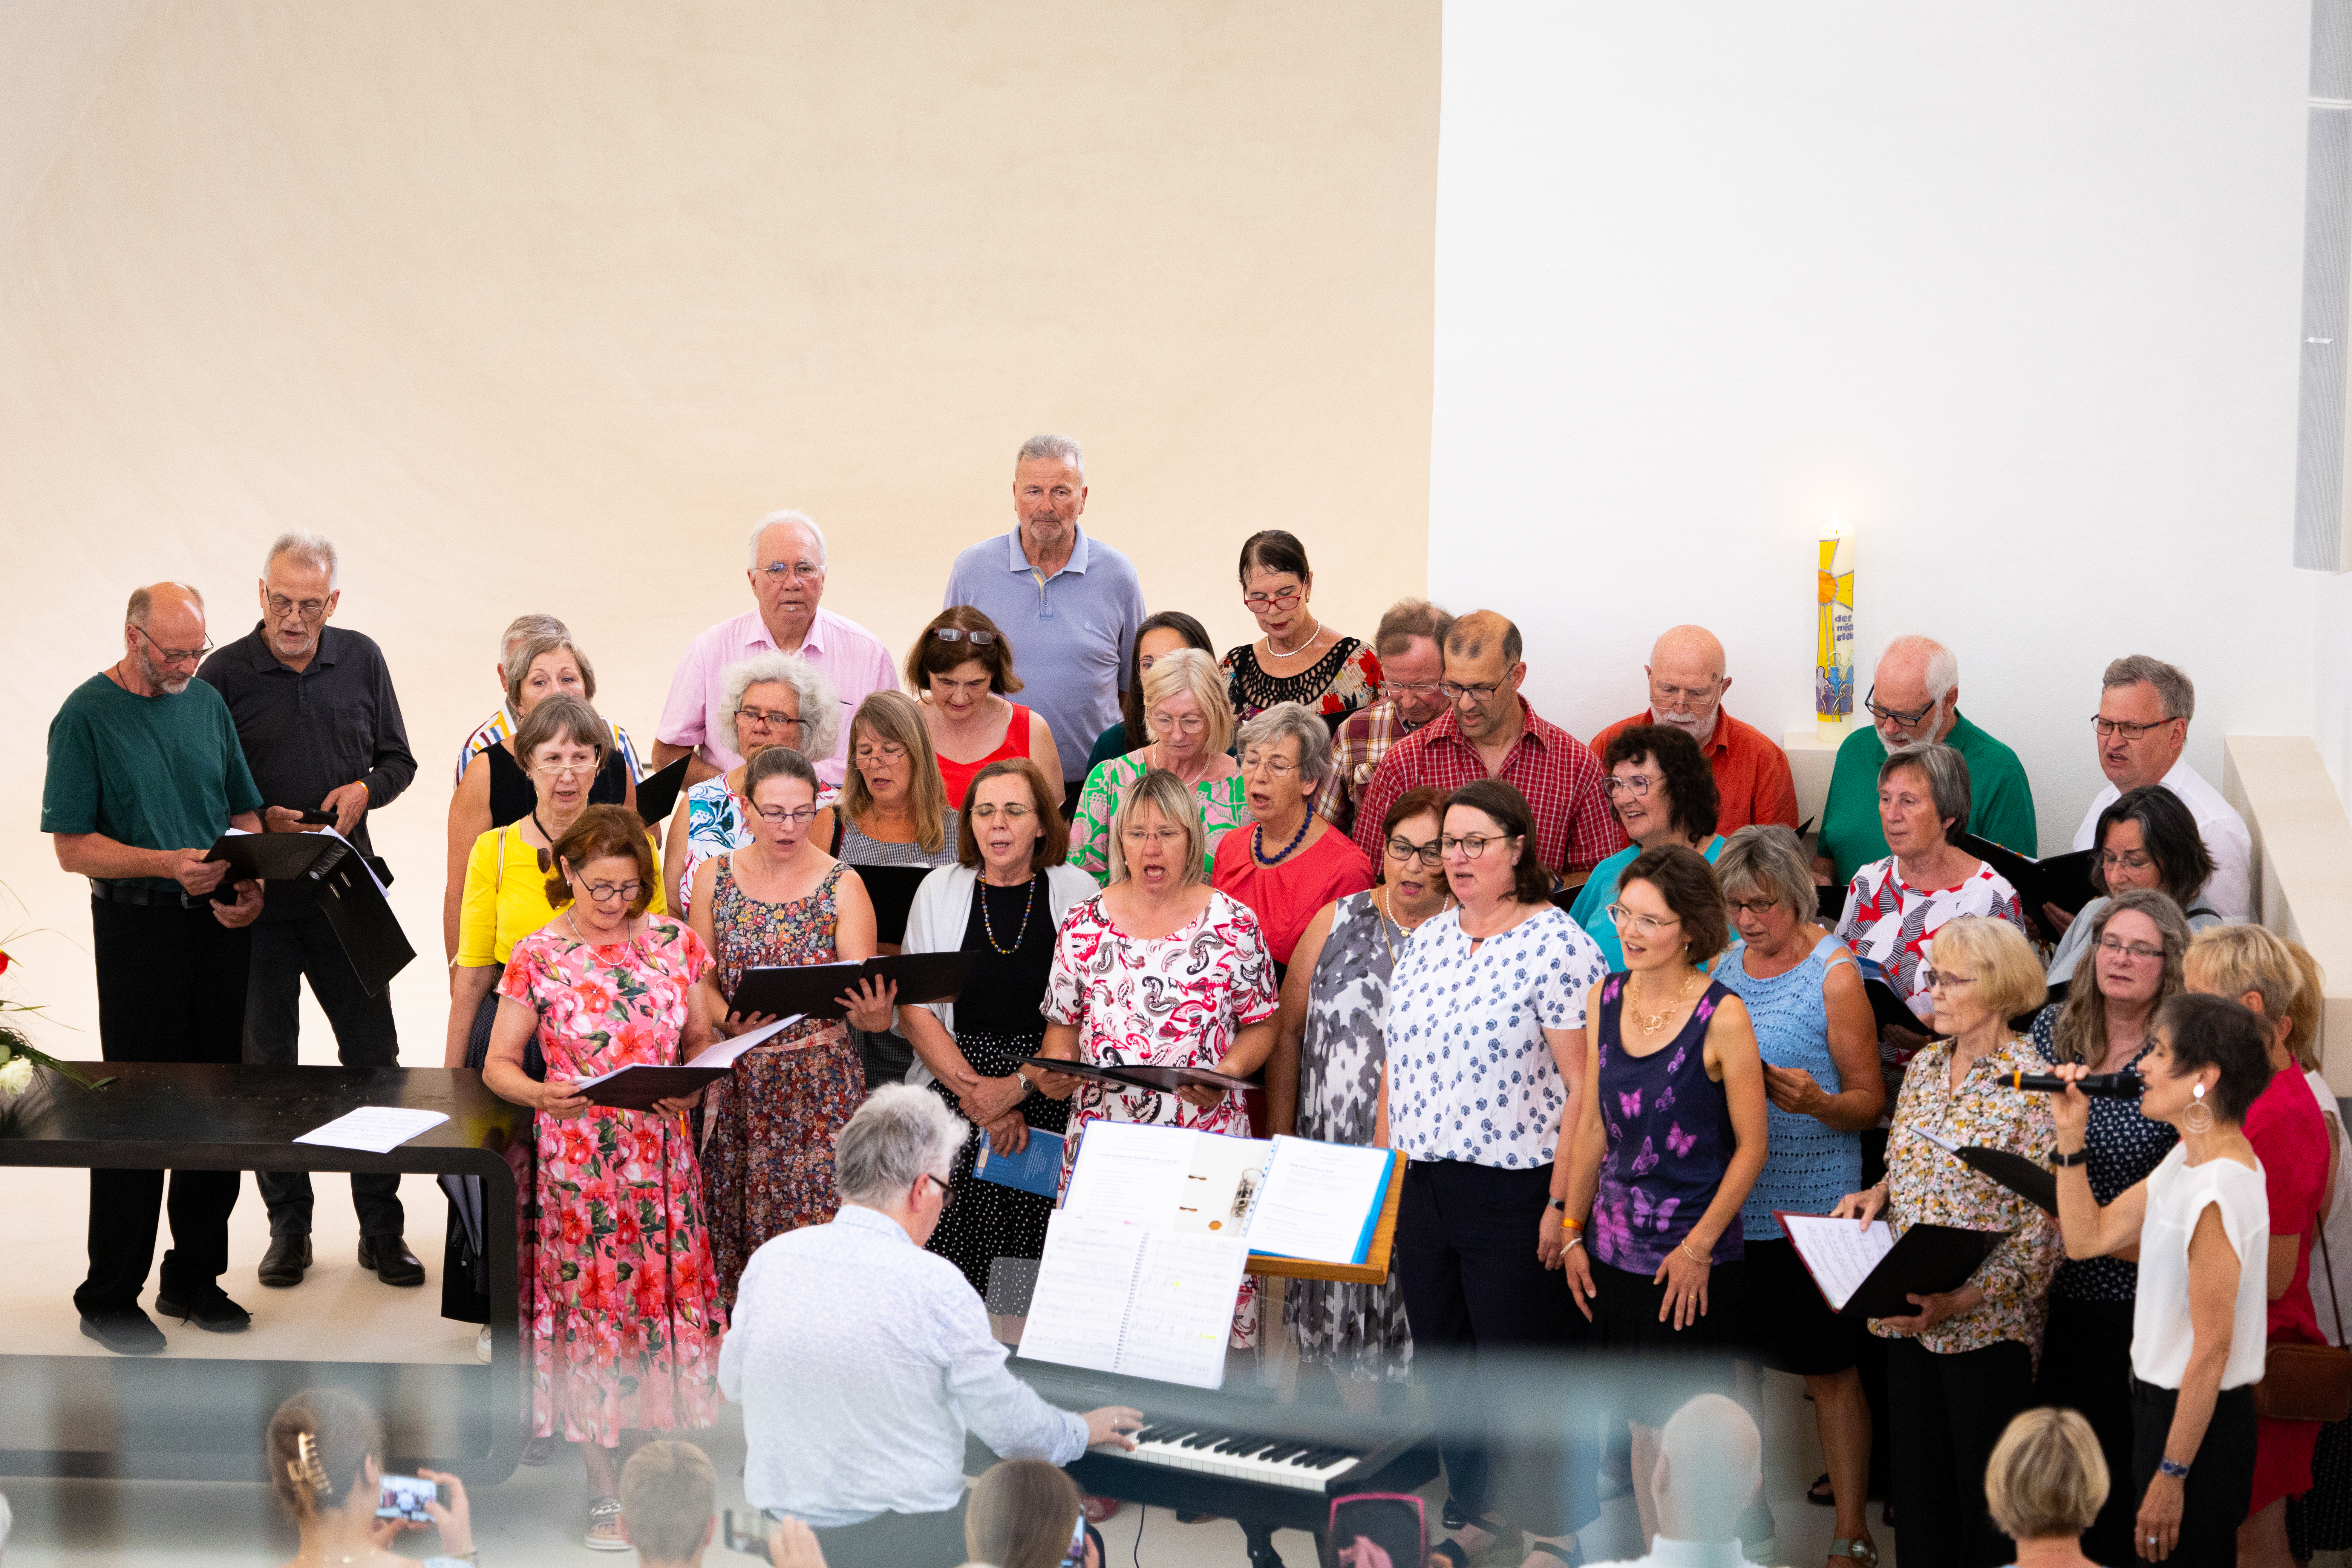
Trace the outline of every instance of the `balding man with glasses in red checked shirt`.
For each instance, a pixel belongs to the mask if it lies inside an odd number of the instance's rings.
[[[1536,856],[1566,884],[1625,849],[1609,811],[1602,764],[1583,741],[1536,717],[1519,696],[1526,663],[1519,628],[1479,609],[1446,630],[1444,715],[1397,741],[1355,804],[1355,842],[1381,863],[1381,818],[1418,785],[1458,790],[1479,778],[1508,778],[1536,813]]]

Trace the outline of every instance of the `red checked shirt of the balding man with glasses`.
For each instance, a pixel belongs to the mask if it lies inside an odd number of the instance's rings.
[[[1494,773],[1486,773],[1477,748],[1463,741],[1451,708],[1397,741],[1357,799],[1355,846],[1378,865],[1385,853],[1381,818],[1392,799],[1418,785],[1451,792],[1479,778],[1505,778],[1526,797],[1536,813],[1536,856],[1545,870],[1588,872],[1625,849],[1602,764],[1583,741],[1536,717],[1534,705],[1526,705],[1526,726]]]

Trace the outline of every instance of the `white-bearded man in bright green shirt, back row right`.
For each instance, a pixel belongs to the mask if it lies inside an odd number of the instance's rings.
[[[1830,799],[1820,809],[1813,870],[1832,884],[1886,858],[1879,832],[1879,764],[1905,745],[1943,741],[1969,764],[1969,832],[2032,856],[2034,790],[2018,755],[1959,717],[1959,658],[1931,637],[1896,637],[1870,682],[1870,729],[1837,748]]]

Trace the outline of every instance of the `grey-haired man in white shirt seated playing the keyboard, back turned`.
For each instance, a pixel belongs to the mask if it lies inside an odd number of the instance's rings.
[[[842,1126],[828,1225],[750,1255],[720,1387],[743,1406],[743,1493],[807,1519],[830,1568],[964,1561],[964,1432],[1009,1460],[1134,1448],[1143,1415],[1058,1410],[1004,1368],[988,1307],[924,1244],[967,1126],[929,1088],[889,1084]]]

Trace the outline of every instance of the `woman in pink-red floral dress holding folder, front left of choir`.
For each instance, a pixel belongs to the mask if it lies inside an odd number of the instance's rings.
[[[619,1465],[647,1432],[713,1425],[720,1335],[691,1100],[590,1105],[579,1079],[710,1044],[701,938],[647,914],[659,870],[633,811],[588,806],[555,844],[553,922],[515,943],[482,1081],[539,1112],[536,1234],[522,1279],[529,1429],[579,1443],[588,1544],[621,1547]],[[548,1077],[522,1046],[536,1034]]]

